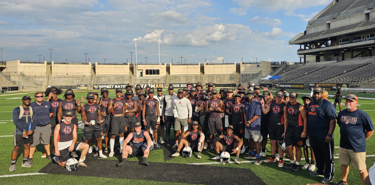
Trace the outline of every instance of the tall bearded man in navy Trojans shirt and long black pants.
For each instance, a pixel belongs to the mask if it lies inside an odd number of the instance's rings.
[[[322,87],[314,87],[313,99],[308,107],[308,132],[318,170],[310,172],[310,175],[324,175],[321,182],[330,184],[335,173],[333,131],[336,109],[330,101],[323,98]]]

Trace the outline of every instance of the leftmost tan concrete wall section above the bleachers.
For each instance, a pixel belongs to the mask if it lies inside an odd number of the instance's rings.
[[[26,75],[46,76],[47,62],[43,64],[21,63],[20,60],[6,62],[6,68],[3,72],[22,72]]]

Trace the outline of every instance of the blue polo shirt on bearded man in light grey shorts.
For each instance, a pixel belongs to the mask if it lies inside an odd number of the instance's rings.
[[[261,104],[258,101],[252,101],[250,104],[246,102],[245,104],[245,114],[246,120],[251,120],[254,115],[258,115],[259,117],[250,123],[250,127],[246,127],[246,129],[250,130],[260,130],[260,121],[261,121]]]

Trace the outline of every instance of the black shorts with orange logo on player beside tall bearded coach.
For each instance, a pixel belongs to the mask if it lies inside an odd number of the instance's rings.
[[[288,127],[285,133],[285,146],[294,145],[296,147],[303,147],[306,143],[306,138],[301,138],[303,126],[301,127]]]

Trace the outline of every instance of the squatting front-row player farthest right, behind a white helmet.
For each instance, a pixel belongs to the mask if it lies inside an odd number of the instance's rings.
[[[225,135],[219,135],[217,136],[213,144],[216,149],[216,157],[211,158],[211,160],[219,160],[220,159],[220,153],[221,152],[229,152],[230,154],[236,154],[236,158],[234,158],[234,162],[236,164],[240,164],[239,157],[240,157],[240,148],[242,147],[243,141],[237,137],[233,133],[233,125],[229,125],[226,128],[226,134]],[[234,143],[234,140],[236,139],[237,143]],[[222,142],[220,142],[220,140]],[[234,148],[236,147],[236,148]]]

